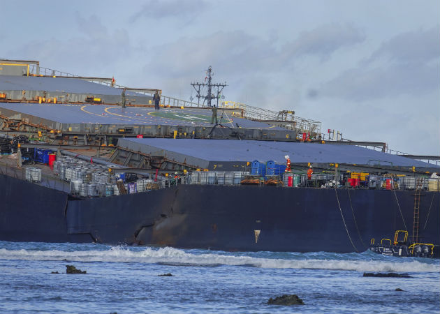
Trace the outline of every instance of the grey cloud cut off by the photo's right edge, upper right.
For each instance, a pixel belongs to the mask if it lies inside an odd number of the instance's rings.
[[[401,33],[381,44],[367,63],[386,59],[397,63],[425,63],[440,56],[440,26]]]

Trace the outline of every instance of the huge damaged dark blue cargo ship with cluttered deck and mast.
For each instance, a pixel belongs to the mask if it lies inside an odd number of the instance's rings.
[[[0,240],[349,253],[404,230],[438,255],[440,167],[416,160],[435,156],[322,134],[219,85],[191,103],[0,63]]]

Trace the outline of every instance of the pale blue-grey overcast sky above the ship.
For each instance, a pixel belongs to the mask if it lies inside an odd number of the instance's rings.
[[[1,1],[0,57],[189,100],[295,110],[349,140],[440,154],[440,1]]]

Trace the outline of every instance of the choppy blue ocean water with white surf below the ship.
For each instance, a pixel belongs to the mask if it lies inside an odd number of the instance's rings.
[[[65,274],[66,264],[87,274]],[[388,271],[413,278],[362,276]],[[158,276],[167,273],[173,276]],[[267,305],[281,294],[297,294],[305,305]],[[439,313],[440,262],[369,251],[230,253],[0,241],[0,313],[112,312]]]

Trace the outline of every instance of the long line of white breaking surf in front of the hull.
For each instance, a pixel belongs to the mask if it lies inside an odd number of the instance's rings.
[[[277,269],[334,269],[349,271],[440,272],[439,263],[405,260],[392,262],[381,260],[318,260],[307,258],[275,259],[249,256],[222,255],[219,253],[193,254],[177,248],[145,248],[133,251],[124,247],[112,247],[106,251],[34,251],[0,249],[0,259],[6,260],[68,260],[75,262],[142,262],[178,265],[235,265]]]

